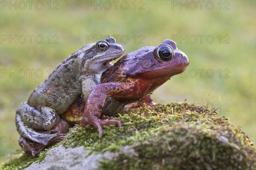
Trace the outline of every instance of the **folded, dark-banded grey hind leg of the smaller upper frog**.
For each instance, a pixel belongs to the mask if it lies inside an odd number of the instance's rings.
[[[33,142],[47,145],[51,139],[60,135],[56,134],[59,130],[52,129],[59,120],[58,114],[53,109],[44,106],[33,108],[25,102],[17,109],[15,122],[20,135]],[[47,131],[40,133],[35,130]]]

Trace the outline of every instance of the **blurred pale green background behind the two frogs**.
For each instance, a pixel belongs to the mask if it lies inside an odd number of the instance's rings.
[[[70,54],[106,35],[125,54],[175,40],[190,65],[154,91],[154,102],[212,103],[256,142],[256,1],[20,2],[1,1],[1,161],[21,150],[20,102]]]

